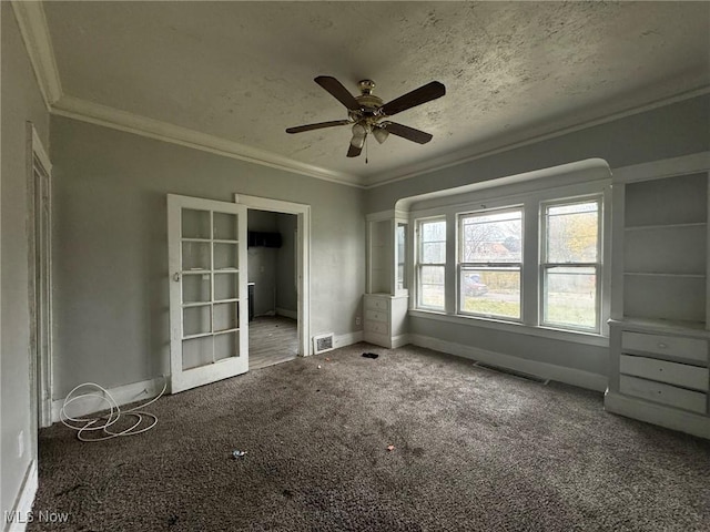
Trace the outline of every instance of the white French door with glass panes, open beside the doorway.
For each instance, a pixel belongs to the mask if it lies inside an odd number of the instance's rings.
[[[248,370],[246,207],[168,195],[173,393]]]

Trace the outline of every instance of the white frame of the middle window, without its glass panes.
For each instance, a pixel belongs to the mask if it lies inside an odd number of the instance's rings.
[[[464,244],[464,222],[466,219],[473,217],[483,217],[489,216],[493,214],[505,214],[505,213],[520,213],[520,260],[513,262],[465,262],[463,257],[463,253],[465,250]],[[524,305],[523,305],[523,294],[524,294],[524,266],[525,266],[525,205],[524,204],[508,204],[504,206],[496,206],[469,211],[469,212],[460,212],[456,213],[456,315],[474,317],[474,318],[485,318],[494,321],[501,323],[514,323],[521,324],[524,321]],[[517,267],[517,270],[514,269]],[[463,274],[465,272],[470,270],[489,270],[489,272],[506,272],[513,270],[518,273],[519,278],[519,297],[518,297],[518,317],[504,316],[499,314],[485,314],[485,313],[475,313],[465,310],[463,308]]]

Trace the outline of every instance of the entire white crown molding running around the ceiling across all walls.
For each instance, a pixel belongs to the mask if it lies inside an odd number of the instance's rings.
[[[375,188],[390,183],[405,181],[417,175],[428,174],[450,166],[465,164],[498,153],[535,144],[710,93],[710,85],[704,85],[692,91],[657,100],[646,105],[611,113],[599,119],[584,121],[576,125],[557,129],[548,125],[547,131],[531,134],[531,136],[524,137],[513,143],[500,144],[498,142],[468,147],[434,157],[422,163],[400,166],[398,168],[384,172],[377,176],[358,177],[353,174],[329,171],[320,166],[301,163],[265,150],[250,147],[215,135],[201,133],[199,131],[178,126],[168,122],[149,119],[148,116],[129,113],[115,108],[65,95],[62,91],[42,2],[39,0],[11,0],[11,4],[32,69],[34,70],[34,75],[38,80],[42,99],[44,100],[48,111],[52,114],[358,188]]]

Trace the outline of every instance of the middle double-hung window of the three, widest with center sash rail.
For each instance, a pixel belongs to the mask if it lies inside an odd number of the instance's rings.
[[[459,216],[459,313],[520,320],[523,208]]]

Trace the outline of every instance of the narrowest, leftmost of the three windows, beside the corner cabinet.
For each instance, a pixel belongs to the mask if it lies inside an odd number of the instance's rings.
[[[424,219],[418,224],[417,306],[444,310],[446,274],[446,221]]]

